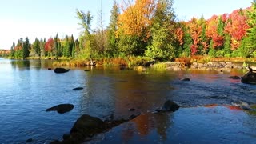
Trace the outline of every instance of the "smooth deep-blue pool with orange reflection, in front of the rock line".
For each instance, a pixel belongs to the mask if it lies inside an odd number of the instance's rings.
[[[255,116],[225,106],[181,108],[173,114],[143,114],[94,142],[254,143],[255,120]]]

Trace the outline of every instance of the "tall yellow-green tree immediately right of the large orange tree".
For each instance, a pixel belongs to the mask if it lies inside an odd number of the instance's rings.
[[[152,41],[147,46],[146,56],[158,60],[175,57],[174,33],[176,32],[172,0],[159,0],[152,20]]]

